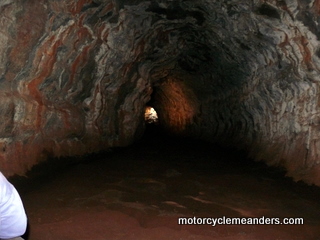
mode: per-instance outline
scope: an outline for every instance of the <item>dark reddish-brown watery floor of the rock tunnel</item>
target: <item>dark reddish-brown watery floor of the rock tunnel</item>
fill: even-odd
[[[62,161],[63,160],[63,161]],[[320,189],[242,153],[146,135],[15,177],[30,240],[320,239]],[[303,218],[303,225],[178,225],[178,217]]]

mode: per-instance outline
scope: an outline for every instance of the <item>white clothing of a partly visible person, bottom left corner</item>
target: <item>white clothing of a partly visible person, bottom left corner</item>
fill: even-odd
[[[14,186],[0,172],[0,239],[21,236],[27,228],[27,217]]]

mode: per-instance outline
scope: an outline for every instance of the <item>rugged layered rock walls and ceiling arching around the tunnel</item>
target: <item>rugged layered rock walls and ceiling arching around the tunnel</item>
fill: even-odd
[[[5,0],[0,169],[168,131],[320,185],[318,0]]]

